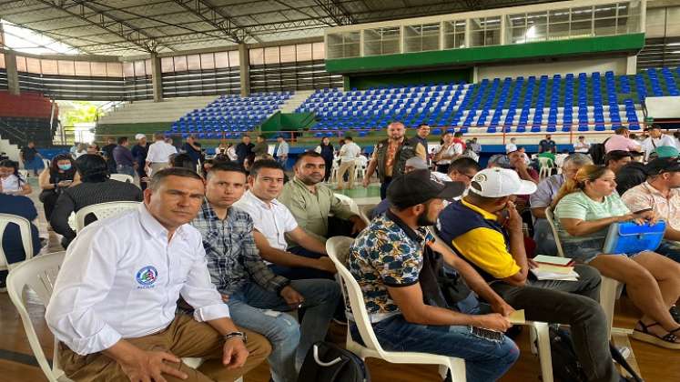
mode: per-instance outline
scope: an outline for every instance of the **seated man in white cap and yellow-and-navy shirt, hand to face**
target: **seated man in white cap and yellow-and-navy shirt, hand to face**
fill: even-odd
[[[600,274],[577,265],[578,281],[536,280],[524,249],[522,218],[513,198],[536,185],[505,168],[487,168],[472,178],[467,196],[447,206],[437,230],[508,304],[526,319],[571,326],[573,345],[589,381],[619,381],[609,350],[607,322],[597,300]]]

